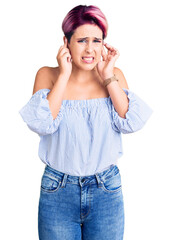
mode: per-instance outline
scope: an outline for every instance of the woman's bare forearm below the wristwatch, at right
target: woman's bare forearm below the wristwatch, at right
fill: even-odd
[[[106,87],[118,115],[122,118],[125,118],[125,114],[128,111],[129,106],[129,100],[127,95],[119,86],[119,83],[117,81],[109,83]]]

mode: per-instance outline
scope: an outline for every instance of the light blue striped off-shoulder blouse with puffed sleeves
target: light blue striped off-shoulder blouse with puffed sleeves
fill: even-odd
[[[129,99],[126,118],[115,111],[109,97],[63,100],[53,120],[47,95],[40,89],[19,111],[29,129],[40,137],[39,158],[52,168],[74,176],[87,176],[117,164],[123,154],[121,133],[141,129],[152,109],[135,93],[123,88]]]

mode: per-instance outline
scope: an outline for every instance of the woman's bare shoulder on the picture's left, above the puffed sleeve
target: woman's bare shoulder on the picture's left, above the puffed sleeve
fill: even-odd
[[[54,79],[57,79],[57,74],[58,67],[41,67],[36,73],[32,94],[40,89],[52,89]]]

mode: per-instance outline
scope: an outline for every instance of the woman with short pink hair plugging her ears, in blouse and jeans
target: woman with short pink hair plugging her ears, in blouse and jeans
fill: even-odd
[[[152,110],[114,67],[119,52],[104,43],[107,28],[98,7],[73,8],[62,24],[59,66],[38,70],[33,95],[20,110],[40,136],[39,157],[46,164],[41,240],[123,239],[121,133],[141,129]]]

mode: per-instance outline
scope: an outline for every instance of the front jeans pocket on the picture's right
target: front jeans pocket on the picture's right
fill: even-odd
[[[120,173],[105,179],[102,182],[102,189],[105,192],[111,192],[111,193],[115,193],[115,192],[119,192],[122,189],[122,185],[121,185],[121,176]]]

